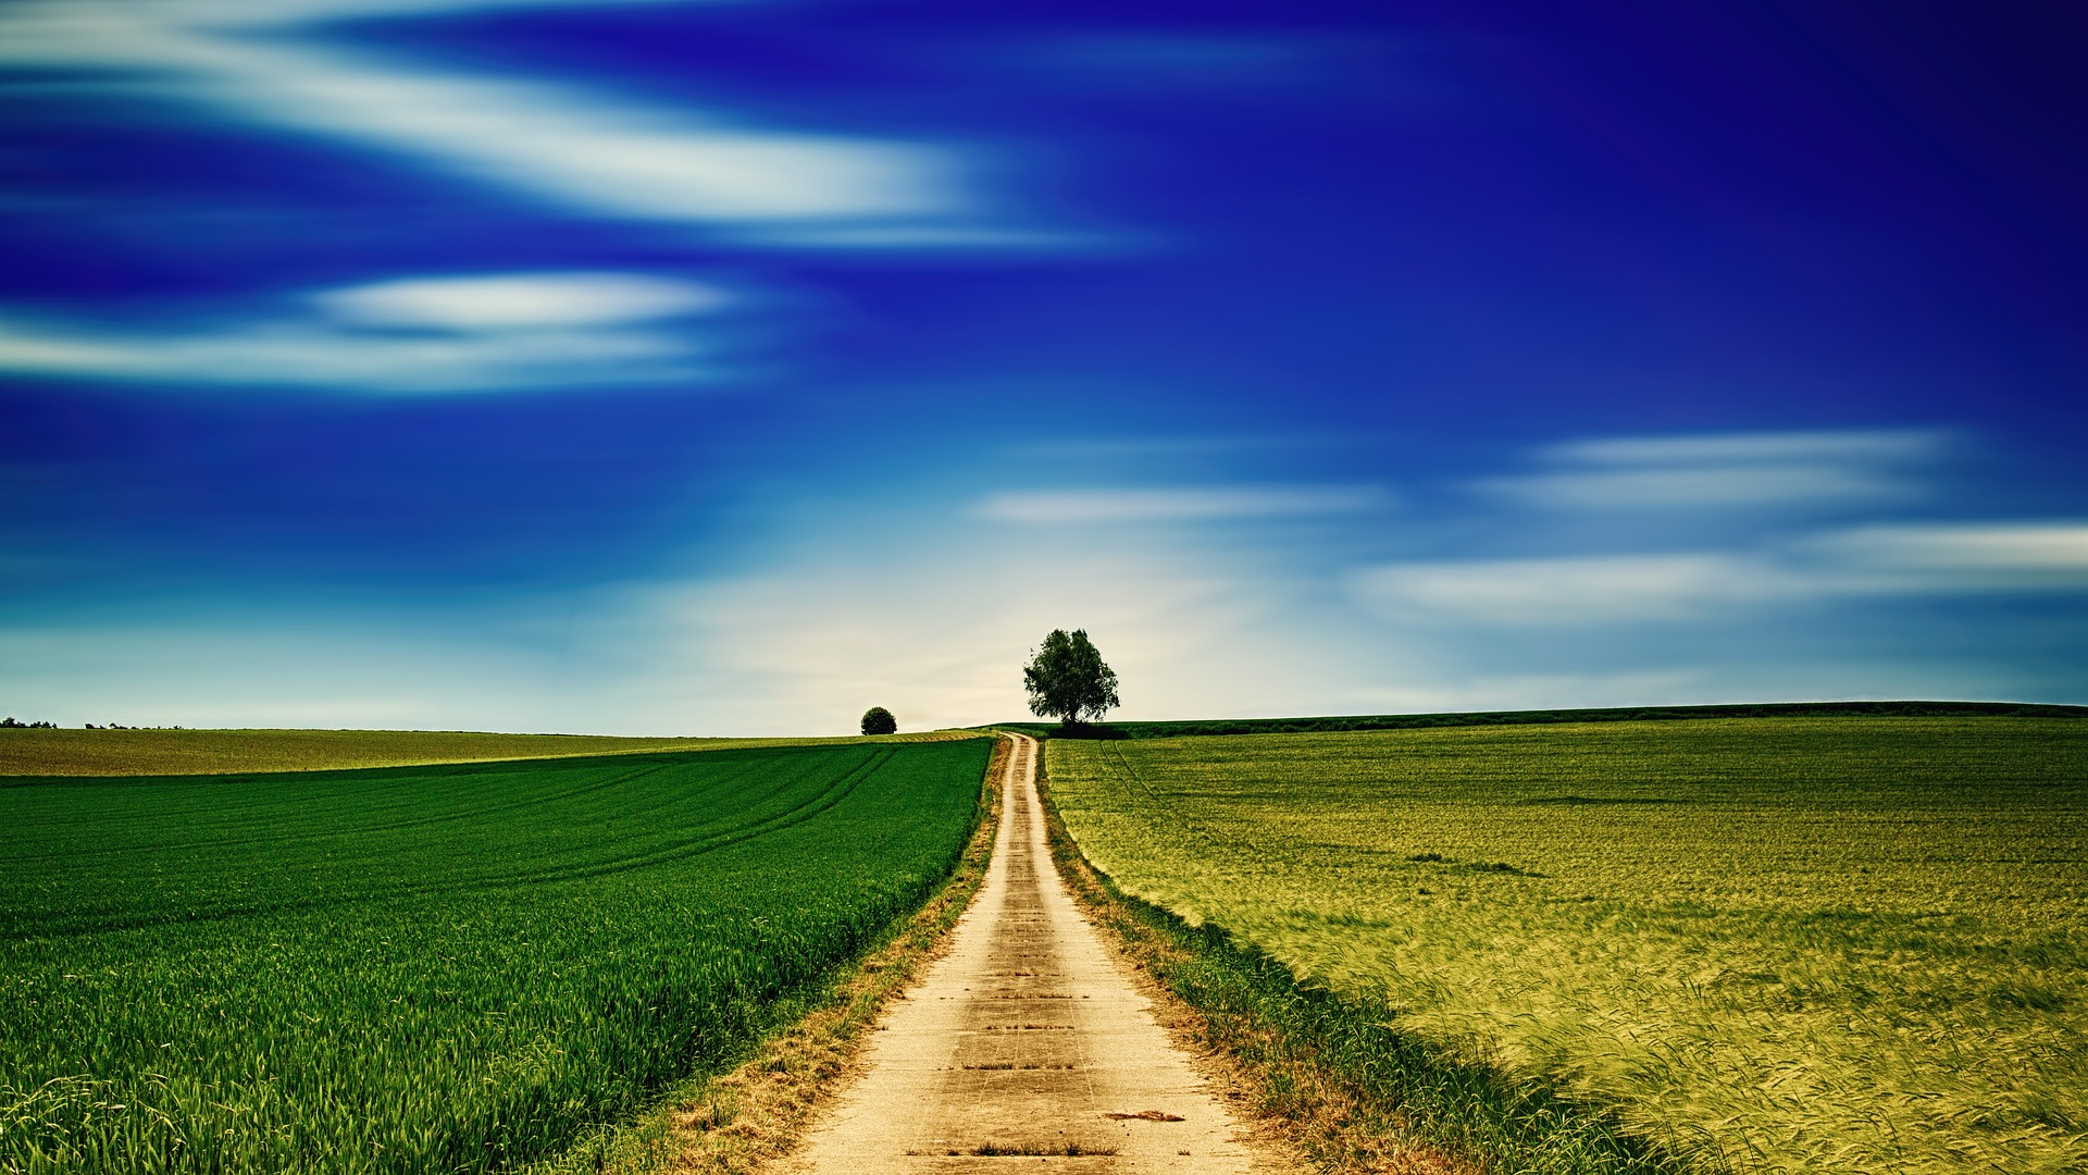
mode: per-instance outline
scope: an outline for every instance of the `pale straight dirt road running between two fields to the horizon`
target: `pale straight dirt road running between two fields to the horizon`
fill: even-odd
[[[1017,736],[986,884],[798,1152],[800,1175],[1274,1171],[1067,895],[1036,755]]]

